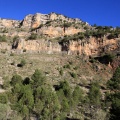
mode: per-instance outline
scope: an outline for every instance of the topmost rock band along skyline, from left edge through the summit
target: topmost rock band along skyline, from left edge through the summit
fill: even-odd
[[[19,20],[9,20],[9,19],[0,19],[0,28],[38,28],[41,24],[45,24],[48,21],[53,20],[62,20],[67,22],[82,23],[80,19],[72,19],[61,14],[50,13],[50,14],[29,14],[22,21]]]

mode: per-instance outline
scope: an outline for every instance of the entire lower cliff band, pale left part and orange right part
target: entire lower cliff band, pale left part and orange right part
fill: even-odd
[[[20,40],[18,50],[25,49],[34,52],[67,52],[86,56],[100,56],[104,52],[120,49],[120,40],[91,37],[88,40],[69,41],[69,43],[51,42],[49,40]]]

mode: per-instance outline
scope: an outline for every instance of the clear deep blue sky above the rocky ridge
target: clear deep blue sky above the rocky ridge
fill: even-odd
[[[120,26],[120,0],[0,0],[0,18],[56,12],[93,25]]]

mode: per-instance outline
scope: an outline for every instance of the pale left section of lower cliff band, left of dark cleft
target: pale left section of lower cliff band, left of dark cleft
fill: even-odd
[[[15,44],[16,45],[16,44]],[[49,40],[19,40],[17,44],[17,50],[26,50],[26,52],[61,52],[61,45],[57,42],[51,42]]]

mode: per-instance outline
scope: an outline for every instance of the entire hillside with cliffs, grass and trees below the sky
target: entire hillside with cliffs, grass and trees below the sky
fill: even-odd
[[[0,59],[0,120],[119,119],[119,27],[0,19]]]

